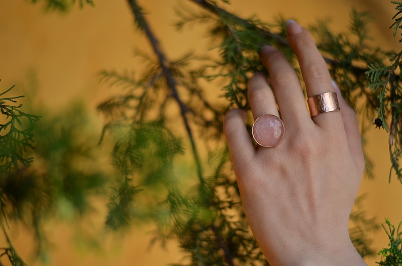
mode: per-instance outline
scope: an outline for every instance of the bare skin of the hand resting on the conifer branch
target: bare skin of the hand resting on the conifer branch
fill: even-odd
[[[256,73],[248,99],[254,119],[279,116],[285,126],[276,147],[254,146],[246,113],[226,114],[224,134],[250,227],[271,265],[366,265],[353,247],[348,219],[364,170],[355,112],[333,85],[306,29],[287,22],[289,43],[307,96],[336,92],[341,111],[310,117],[299,78],[285,56],[264,47],[268,79]]]

